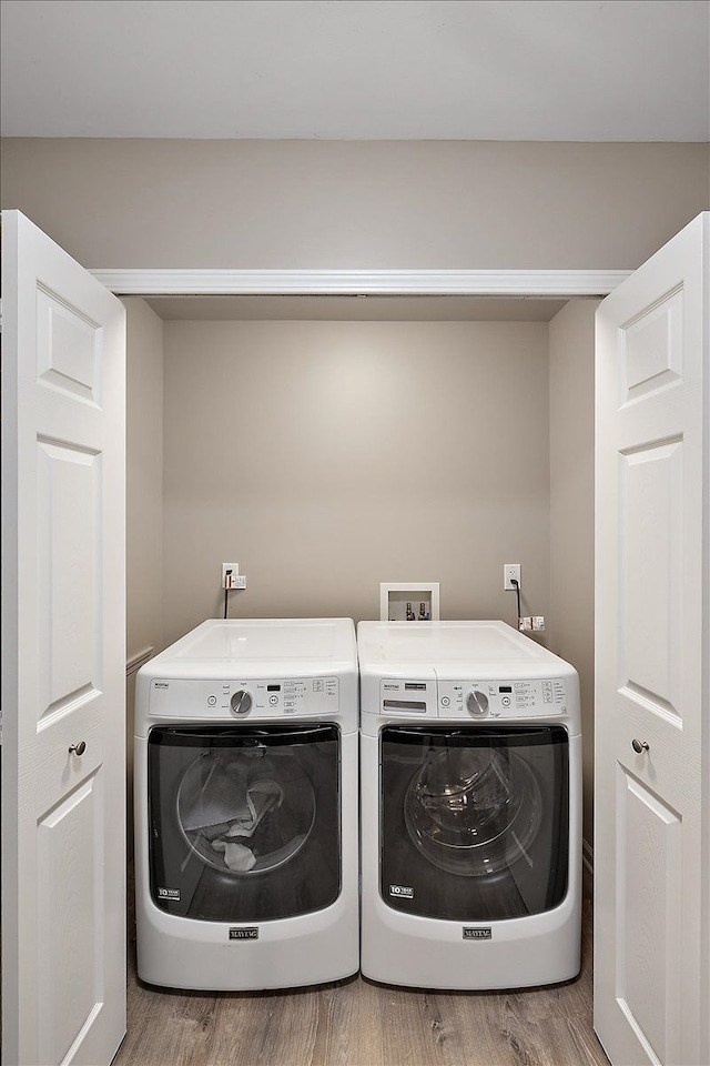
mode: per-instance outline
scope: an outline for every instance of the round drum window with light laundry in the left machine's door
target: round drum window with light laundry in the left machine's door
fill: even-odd
[[[178,788],[178,822],[209,866],[233,874],[275,869],[301,851],[315,821],[307,774],[263,750],[203,753]]]

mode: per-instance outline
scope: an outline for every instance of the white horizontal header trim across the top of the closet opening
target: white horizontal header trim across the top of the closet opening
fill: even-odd
[[[91,270],[116,295],[604,296],[630,270]]]

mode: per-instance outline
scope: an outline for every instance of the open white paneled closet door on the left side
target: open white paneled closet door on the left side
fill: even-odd
[[[2,1043],[125,1032],[124,309],[2,213]]]

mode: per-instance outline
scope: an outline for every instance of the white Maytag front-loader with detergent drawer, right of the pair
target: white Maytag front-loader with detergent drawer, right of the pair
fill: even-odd
[[[504,622],[361,622],[361,967],[425,988],[579,972],[576,671]]]

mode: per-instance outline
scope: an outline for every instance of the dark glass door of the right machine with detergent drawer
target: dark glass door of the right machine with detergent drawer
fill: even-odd
[[[539,914],[565,896],[566,730],[382,732],[381,893],[427,917]]]

